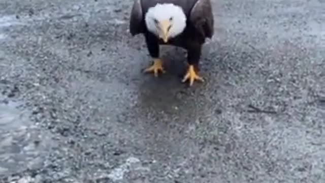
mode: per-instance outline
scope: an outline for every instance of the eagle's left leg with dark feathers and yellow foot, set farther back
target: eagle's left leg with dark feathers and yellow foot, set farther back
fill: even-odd
[[[153,58],[153,64],[146,69],[144,69],[145,73],[153,72],[154,76],[158,76],[158,72],[165,73],[165,69],[163,67],[163,60],[159,58],[159,44],[158,40],[155,36],[151,34],[145,35],[146,44],[148,47],[148,51],[150,56]]]

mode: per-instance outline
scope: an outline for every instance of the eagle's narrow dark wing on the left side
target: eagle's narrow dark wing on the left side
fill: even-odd
[[[131,11],[129,29],[132,36],[143,33],[144,23],[141,0],[134,0]]]

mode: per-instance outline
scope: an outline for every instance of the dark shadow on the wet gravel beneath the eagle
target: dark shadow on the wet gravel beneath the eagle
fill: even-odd
[[[160,58],[166,73],[143,73],[144,68],[150,66],[153,61],[149,60],[143,64],[141,70],[141,83],[139,85],[139,99],[142,108],[153,107],[157,110],[166,110],[169,106],[178,105],[175,97],[182,90],[186,90],[188,83],[181,80],[186,72],[186,50],[174,46],[160,46]]]

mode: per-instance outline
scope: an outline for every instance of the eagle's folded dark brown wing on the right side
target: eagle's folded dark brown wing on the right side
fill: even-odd
[[[190,12],[189,20],[204,38],[212,38],[214,20],[210,0],[198,0]]]

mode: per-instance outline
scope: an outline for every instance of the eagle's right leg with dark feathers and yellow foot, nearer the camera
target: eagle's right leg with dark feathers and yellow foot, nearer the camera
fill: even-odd
[[[202,82],[204,81],[204,79],[198,74],[201,48],[202,48],[201,45],[196,45],[196,46],[193,45],[187,48],[188,68],[182,82],[189,80],[190,86],[193,84],[194,80],[199,80]]]

